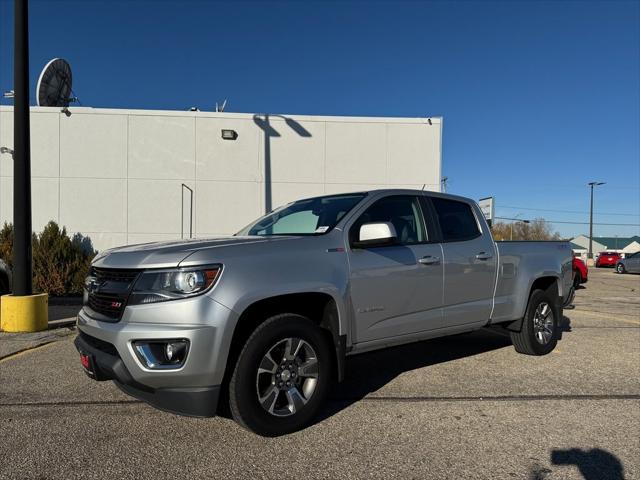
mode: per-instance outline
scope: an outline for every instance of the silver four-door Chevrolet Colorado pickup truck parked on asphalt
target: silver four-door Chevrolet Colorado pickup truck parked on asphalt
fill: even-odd
[[[280,435],[313,419],[347,355],[492,325],[520,353],[549,353],[571,260],[566,242],[496,244],[454,195],[309,198],[231,237],[103,252],[75,343],[90,377],[157,408],[228,404],[244,427]]]

